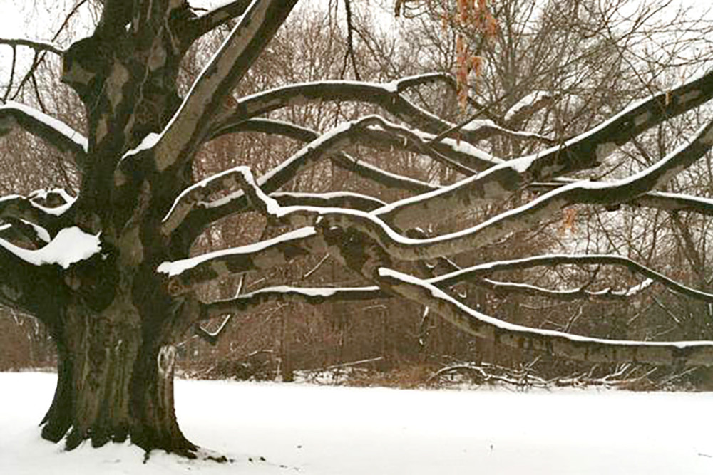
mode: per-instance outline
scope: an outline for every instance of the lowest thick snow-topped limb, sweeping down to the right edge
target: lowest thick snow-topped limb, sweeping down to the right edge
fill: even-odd
[[[663,365],[713,365],[713,341],[637,342],[588,338],[498,320],[448,296],[436,286],[389,268],[379,268],[379,285],[426,305],[461,330],[496,343],[587,362],[633,361]]]

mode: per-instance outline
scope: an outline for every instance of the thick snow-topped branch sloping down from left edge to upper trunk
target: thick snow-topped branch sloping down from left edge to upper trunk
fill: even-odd
[[[70,152],[78,165],[86,157],[87,140],[64,122],[27,105],[9,101],[0,105],[0,136],[14,127],[45,140],[61,152]]]

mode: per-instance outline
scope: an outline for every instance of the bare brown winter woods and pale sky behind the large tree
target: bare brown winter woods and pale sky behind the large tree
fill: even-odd
[[[489,121],[490,133],[483,134],[478,147],[507,159],[562,143],[610,118],[632,99],[665,91],[711,66],[713,48],[706,38],[712,37],[713,25],[701,11],[681,9],[670,1],[641,6],[616,0],[497,1],[492,7],[493,31],[487,36],[459,18],[454,3],[395,3],[398,16],[392,1],[302,4],[235,95],[325,78],[384,83],[421,73],[448,73],[454,78],[449,89],[441,84],[411,88],[409,100],[451,122],[475,119],[463,127],[464,133],[475,123]],[[83,22],[91,21],[91,2],[79,4],[76,16],[51,26],[53,31],[47,35],[56,33],[54,41],[68,41],[76,36],[73,32],[81,31]],[[222,33],[229,30],[230,25],[225,26]],[[185,88],[221,39],[218,32],[193,47],[182,65]],[[61,68],[56,60],[21,47],[13,53],[17,68],[11,72],[8,64],[0,65],[3,98],[34,105],[82,130],[81,118],[70,112],[80,110],[78,99],[68,88],[57,87]],[[654,127],[581,177],[615,179],[650,167],[692,135],[709,109],[703,106]],[[301,140],[309,141],[314,138],[310,130],[323,132],[371,112],[363,104],[312,102],[266,117],[308,127]],[[374,106],[373,112],[382,111]],[[198,181],[235,165],[248,165],[261,175],[299,150],[299,138],[258,132],[225,135],[200,152],[194,178]],[[452,164],[394,147],[388,137],[377,134],[372,139],[369,147],[353,145],[345,152],[359,163],[378,164],[410,177],[414,189],[451,184],[463,176]],[[474,164],[463,171],[481,169]],[[530,185],[508,202],[478,204],[431,223],[424,232],[443,234],[456,229],[456,224],[461,229],[475,225],[553,186]],[[2,137],[0,194],[29,195],[54,187],[78,189],[78,176],[61,152],[21,132]],[[359,192],[384,202],[408,196],[361,179],[336,161],[312,167],[282,191],[297,189]],[[660,191],[684,190],[713,198],[710,154]],[[225,219],[200,237],[194,253],[249,244],[271,237],[271,232],[275,230],[258,214]],[[453,261],[465,267],[533,254],[617,254],[709,292],[713,290],[711,239],[706,215],[628,205],[617,209],[579,205]],[[438,273],[435,261],[433,266],[431,271]],[[202,293],[205,300],[215,300],[232,297],[235,288],[246,293],[276,283],[316,287],[359,282],[359,276],[329,256],[308,257],[269,273],[225,278],[206,285]],[[460,291],[471,308],[535,328],[618,340],[713,340],[709,303],[657,286],[625,267],[582,264],[499,271]],[[0,313],[6,317],[0,318],[0,370],[55,365],[53,343],[41,323],[7,308],[0,308]],[[633,389],[713,385],[713,374],[703,368],[588,365],[501,347],[461,333],[422,306],[396,299],[321,306],[267,303],[231,316],[204,325],[202,338],[188,336],[178,345],[179,365],[186,375],[284,381],[329,375],[353,384],[406,386],[447,382],[453,375],[515,385],[589,383]],[[220,338],[212,336],[221,328]]]

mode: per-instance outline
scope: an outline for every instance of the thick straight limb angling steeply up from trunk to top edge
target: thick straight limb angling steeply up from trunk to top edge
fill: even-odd
[[[183,104],[155,144],[155,167],[163,172],[191,160],[213,120],[277,32],[297,0],[255,0],[195,80]]]

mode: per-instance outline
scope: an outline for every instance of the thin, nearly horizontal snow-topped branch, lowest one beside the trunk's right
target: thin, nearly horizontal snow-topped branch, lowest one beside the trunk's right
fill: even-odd
[[[388,293],[379,287],[347,287],[347,288],[299,288],[277,286],[263,288],[259,291],[228,300],[205,303],[201,309],[200,318],[207,320],[225,313],[245,312],[267,302],[308,303],[321,305],[324,303],[365,301],[374,298],[389,298]]]

